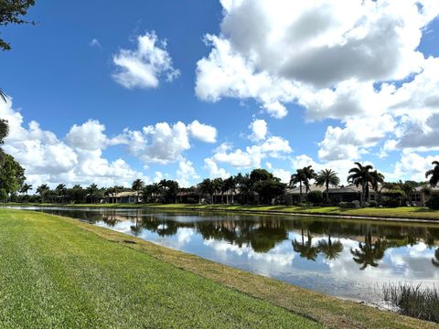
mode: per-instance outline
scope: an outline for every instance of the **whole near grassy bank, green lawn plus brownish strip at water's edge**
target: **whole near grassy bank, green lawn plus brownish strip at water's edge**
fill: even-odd
[[[1,327],[437,327],[28,211],[0,209],[0,269]]]

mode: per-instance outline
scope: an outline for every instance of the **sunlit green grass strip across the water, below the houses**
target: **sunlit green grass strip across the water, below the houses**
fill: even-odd
[[[3,204],[3,206],[41,206],[40,204]],[[59,206],[46,204],[45,206]],[[412,218],[439,220],[439,210],[431,210],[427,207],[395,207],[395,208],[340,208],[340,207],[295,207],[295,206],[241,206],[241,205],[187,205],[187,204],[100,204],[100,205],[69,205],[69,207],[145,207],[145,208],[169,208],[187,210],[223,210],[223,211],[245,211],[263,213],[284,213],[284,214],[307,214],[325,216],[347,216],[347,217],[370,217],[370,218]]]

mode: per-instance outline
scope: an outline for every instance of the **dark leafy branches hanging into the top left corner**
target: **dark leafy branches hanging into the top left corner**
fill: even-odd
[[[35,0],[0,0],[0,26],[35,24],[22,18],[27,15],[27,9],[31,5],[35,5]],[[0,38],[0,48],[10,50],[11,45]]]

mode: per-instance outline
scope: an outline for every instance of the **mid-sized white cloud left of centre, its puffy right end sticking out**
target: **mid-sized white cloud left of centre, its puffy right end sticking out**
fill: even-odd
[[[167,122],[145,126],[142,131],[125,129],[115,139],[127,145],[130,154],[145,163],[169,164],[181,160],[184,151],[190,149],[190,137],[205,143],[214,143],[217,130],[207,124],[194,121],[186,125]]]

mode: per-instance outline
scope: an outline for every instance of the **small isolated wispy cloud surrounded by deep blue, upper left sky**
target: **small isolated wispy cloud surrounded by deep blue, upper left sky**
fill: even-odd
[[[162,76],[172,81],[180,74],[173,67],[166,41],[158,40],[154,31],[137,37],[135,50],[120,49],[112,61],[117,67],[112,78],[128,89],[156,88]]]

